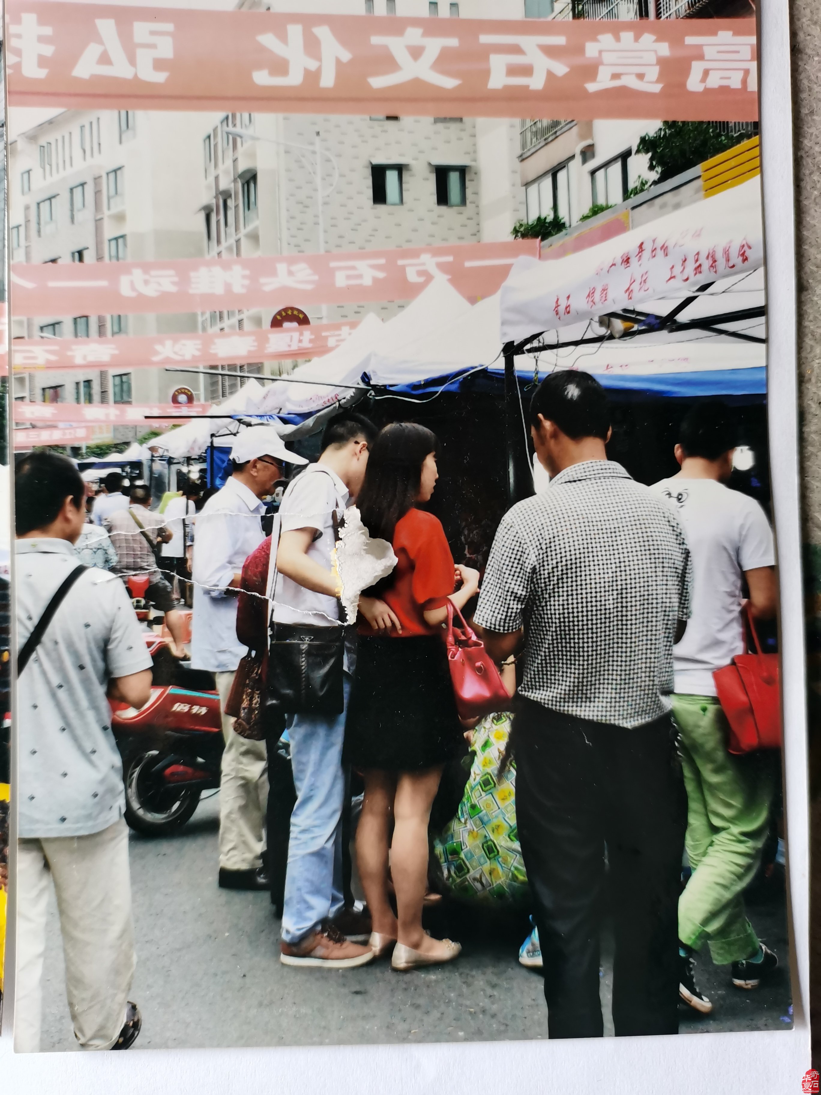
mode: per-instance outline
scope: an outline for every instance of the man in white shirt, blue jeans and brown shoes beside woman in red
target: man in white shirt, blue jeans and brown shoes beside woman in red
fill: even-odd
[[[319,461],[291,482],[279,507],[281,534],[274,591],[275,623],[339,624],[339,578],[334,566],[337,526],[365,479],[375,429],[343,411],[328,419]],[[382,601],[360,600],[374,627],[398,625]],[[385,620],[388,613],[392,619]],[[355,647],[346,646],[343,688],[347,707]],[[287,966],[342,969],[373,957],[367,910],[345,909],[342,818],[346,779],[342,764],[345,711],[294,714],[288,736],[297,802],[291,814],[282,907],[280,960]]]

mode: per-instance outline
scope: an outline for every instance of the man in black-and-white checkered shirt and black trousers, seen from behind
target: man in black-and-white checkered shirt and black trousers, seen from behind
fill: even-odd
[[[522,652],[517,821],[548,1034],[603,1034],[603,908],[616,1035],[677,1034],[686,804],[669,693],[690,552],[675,514],[608,461],[597,380],[553,373],[530,420],[551,482],[502,518],[474,622],[494,658]]]

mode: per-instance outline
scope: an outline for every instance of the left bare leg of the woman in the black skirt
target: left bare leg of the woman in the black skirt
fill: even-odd
[[[396,776],[371,769],[363,773],[365,796],[357,825],[357,867],[373,931],[396,938],[396,918],[388,900],[388,849]]]

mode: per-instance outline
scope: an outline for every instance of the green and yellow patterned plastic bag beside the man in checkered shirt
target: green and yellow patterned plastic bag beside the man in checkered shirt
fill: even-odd
[[[516,828],[516,765],[499,775],[510,715],[497,712],[476,726],[474,759],[456,816],[433,840],[444,885],[452,897],[529,908]]]

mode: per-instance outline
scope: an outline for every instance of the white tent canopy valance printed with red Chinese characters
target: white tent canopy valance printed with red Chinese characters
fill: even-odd
[[[564,258],[519,258],[500,289],[500,341],[522,342],[762,266],[760,178]],[[564,339],[564,336],[563,336]]]

